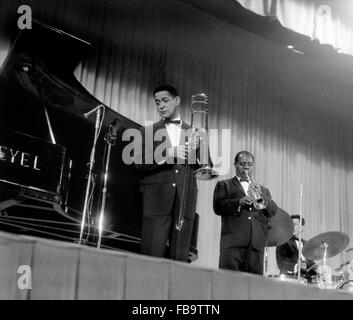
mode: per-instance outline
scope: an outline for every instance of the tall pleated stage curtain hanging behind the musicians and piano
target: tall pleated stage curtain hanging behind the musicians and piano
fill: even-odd
[[[144,124],[158,119],[151,91],[161,82],[179,88],[186,121],[191,95],[207,93],[209,127],[230,132],[219,150],[225,159],[216,166],[222,173],[218,179],[233,176],[227,163],[247,149],[256,157],[257,181],[280,207],[295,214],[302,203],[306,239],[328,231],[353,239],[353,72],[346,60],[297,54],[185,1],[26,3],[35,18],[92,44],[75,75],[99,100]],[[18,31],[21,4],[0,2],[2,60]],[[217,144],[221,134],[211,141],[212,153]],[[218,266],[220,218],[212,210],[216,182],[199,182],[195,264],[206,267]],[[351,258],[342,253],[329,263],[334,268]],[[276,272],[270,248],[269,273]]]

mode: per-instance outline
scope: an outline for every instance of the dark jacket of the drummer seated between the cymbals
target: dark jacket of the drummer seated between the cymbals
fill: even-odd
[[[303,240],[303,246],[306,241]],[[295,237],[292,236],[286,243],[276,248],[277,266],[282,274],[291,274],[294,272],[294,266],[298,263],[298,247]],[[307,268],[315,264],[314,261],[305,259]],[[314,271],[314,270],[313,270]]]

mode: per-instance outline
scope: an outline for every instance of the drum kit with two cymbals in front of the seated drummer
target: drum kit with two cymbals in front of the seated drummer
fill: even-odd
[[[293,222],[288,213],[278,209],[277,213],[269,220],[267,243],[264,257],[264,274],[267,276],[267,247],[277,247],[289,240],[293,235]],[[327,259],[338,255],[348,246],[349,237],[345,233],[332,231],[319,234],[311,238],[303,247],[302,254],[306,259],[314,260],[317,279],[316,285],[321,289],[347,289],[353,291],[353,260],[342,263],[334,271],[339,275],[333,275]],[[353,247],[345,252],[353,251]],[[306,270],[308,271],[308,270]],[[278,276],[275,276],[278,277]],[[280,280],[297,281],[289,279],[285,275],[279,276]],[[302,281],[302,279],[300,280]],[[306,282],[304,282],[306,283]]]

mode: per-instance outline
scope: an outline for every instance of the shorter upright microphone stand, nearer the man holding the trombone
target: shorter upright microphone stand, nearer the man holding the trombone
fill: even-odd
[[[114,120],[114,122],[115,122],[115,120]],[[108,181],[108,172],[109,172],[110,152],[111,152],[112,146],[115,145],[116,138],[117,138],[116,130],[114,128],[114,125],[111,124],[109,126],[108,133],[104,137],[104,141],[108,145],[108,151],[107,151],[107,157],[106,157],[104,183],[103,183],[103,189],[102,189],[102,204],[101,204],[99,223],[98,223],[98,244],[97,244],[98,249],[100,249],[101,242],[102,242],[103,218],[104,218],[105,201],[107,198],[107,181]]]

